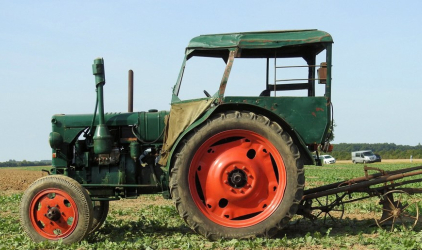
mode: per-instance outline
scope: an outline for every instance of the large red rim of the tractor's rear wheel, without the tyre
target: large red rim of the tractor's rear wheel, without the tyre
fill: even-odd
[[[228,130],[196,151],[188,175],[196,206],[211,221],[248,227],[268,218],[286,188],[282,157],[275,146],[248,130]]]

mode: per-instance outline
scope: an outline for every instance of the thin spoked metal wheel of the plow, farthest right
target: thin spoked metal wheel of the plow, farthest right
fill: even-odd
[[[401,190],[392,190],[385,193],[380,200],[382,216],[375,219],[382,228],[412,230],[419,219],[419,202]]]

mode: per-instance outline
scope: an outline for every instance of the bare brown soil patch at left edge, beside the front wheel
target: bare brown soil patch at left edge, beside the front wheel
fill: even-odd
[[[42,171],[0,168],[0,195],[22,193],[32,182],[46,175]]]

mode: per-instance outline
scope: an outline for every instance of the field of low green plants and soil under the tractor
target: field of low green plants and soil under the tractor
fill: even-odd
[[[418,166],[408,161],[371,164],[384,170]],[[46,167],[43,167],[44,169]],[[341,221],[314,222],[296,216],[291,225],[271,239],[208,241],[193,233],[179,217],[173,204],[161,195],[145,195],[110,203],[103,227],[86,240],[70,246],[33,243],[19,225],[22,192],[45,175],[42,167],[0,168],[0,250],[2,249],[422,249],[422,221],[413,231],[379,229],[378,198],[346,204]],[[306,166],[306,188],[364,175],[363,165],[337,163],[323,167]],[[413,187],[420,187],[413,184]],[[421,199],[419,195],[409,199]],[[421,216],[422,217],[422,216]]]

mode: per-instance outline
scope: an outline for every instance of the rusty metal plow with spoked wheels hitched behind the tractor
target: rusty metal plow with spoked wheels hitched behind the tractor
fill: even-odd
[[[362,177],[305,190],[297,214],[311,221],[321,218],[324,224],[337,223],[343,218],[344,204],[378,197],[382,215],[375,222],[379,227],[412,229],[419,220],[419,200],[412,195],[422,193],[422,188],[405,185],[422,181],[422,166],[394,171],[365,166],[364,172]]]

